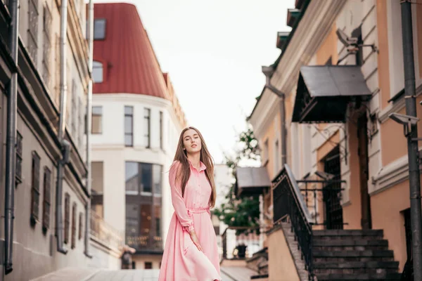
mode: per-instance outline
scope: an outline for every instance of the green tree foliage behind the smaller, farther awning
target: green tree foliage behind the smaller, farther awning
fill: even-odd
[[[257,160],[260,157],[258,142],[250,126],[246,131],[239,134],[238,142],[240,148],[236,150],[235,154],[225,155],[226,165],[233,171],[233,176],[236,175],[236,167],[241,160]],[[235,185],[236,183],[233,183],[229,192],[226,194],[227,202],[216,208],[214,213],[228,226],[257,228],[257,233],[259,233],[259,199],[257,197],[236,197],[234,194]],[[239,234],[244,231],[238,230],[237,232]]]

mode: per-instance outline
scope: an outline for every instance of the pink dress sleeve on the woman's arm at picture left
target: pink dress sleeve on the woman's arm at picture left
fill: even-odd
[[[181,195],[180,182],[176,181],[176,175],[180,168],[180,162],[173,162],[172,166],[170,167],[170,190],[172,191],[172,204],[174,207],[174,212],[176,213],[177,218],[179,218],[183,229],[189,232],[193,230],[193,221],[188,214],[186,204],[184,203],[183,197]]]

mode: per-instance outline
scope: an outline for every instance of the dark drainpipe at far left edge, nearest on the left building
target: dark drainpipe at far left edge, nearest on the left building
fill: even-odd
[[[15,65],[18,65],[19,0],[9,0],[11,13],[8,47]],[[4,266],[5,273],[13,270],[13,220],[15,218],[15,169],[16,169],[16,112],[18,106],[18,72],[14,72],[8,87],[7,140],[6,140],[6,190],[4,202]]]

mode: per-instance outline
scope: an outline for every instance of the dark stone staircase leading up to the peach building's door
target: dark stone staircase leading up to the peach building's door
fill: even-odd
[[[314,274],[323,280],[400,280],[383,230],[314,230]]]

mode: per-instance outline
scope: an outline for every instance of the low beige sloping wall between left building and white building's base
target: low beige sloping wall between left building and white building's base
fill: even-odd
[[[120,251],[123,245],[123,233],[115,230],[106,221],[91,210],[91,240],[103,244],[103,246]]]

